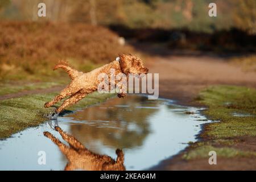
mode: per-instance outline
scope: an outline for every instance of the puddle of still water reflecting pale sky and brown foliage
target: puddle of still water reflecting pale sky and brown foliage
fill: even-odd
[[[43,135],[48,131],[68,146],[53,130],[55,125],[79,140],[92,155],[108,155],[115,160],[115,150],[122,148],[127,170],[146,169],[177,154],[188,142],[196,141],[200,125],[210,122],[200,110],[175,105],[171,100],[147,100],[144,96],[113,98],[0,141],[0,169],[63,170],[69,162],[66,155]],[[39,151],[46,152],[45,165],[38,164]],[[68,157],[84,163],[80,169],[92,169],[96,165],[84,152],[76,159]]]

